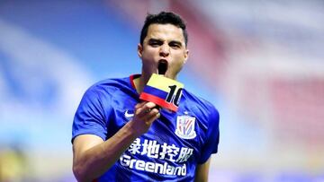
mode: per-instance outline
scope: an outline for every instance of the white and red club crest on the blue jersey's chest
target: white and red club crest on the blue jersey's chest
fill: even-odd
[[[187,115],[176,117],[175,134],[184,139],[193,139],[196,136],[194,122],[195,117]]]

